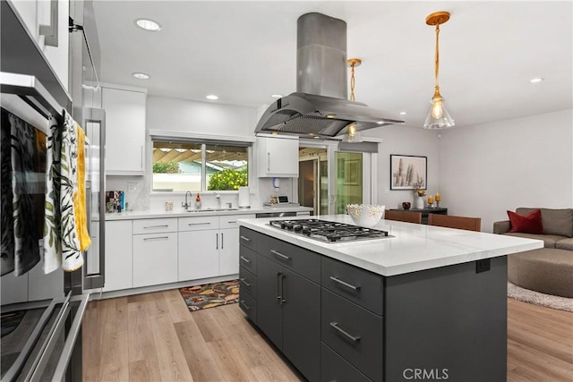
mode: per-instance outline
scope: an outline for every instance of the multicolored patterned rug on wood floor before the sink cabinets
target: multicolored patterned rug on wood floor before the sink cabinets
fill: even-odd
[[[202,310],[239,301],[239,280],[179,288],[189,310]]]

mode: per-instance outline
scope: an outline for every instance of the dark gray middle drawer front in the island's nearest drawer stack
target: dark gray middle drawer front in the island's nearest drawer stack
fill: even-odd
[[[382,379],[382,318],[322,288],[321,339],[373,381]]]

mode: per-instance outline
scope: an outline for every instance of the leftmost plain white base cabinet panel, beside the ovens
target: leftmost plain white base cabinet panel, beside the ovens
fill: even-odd
[[[132,221],[106,222],[106,281],[104,292],[133,287]]]

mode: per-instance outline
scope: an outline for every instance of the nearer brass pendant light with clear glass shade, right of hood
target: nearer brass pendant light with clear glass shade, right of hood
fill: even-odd
[[[436,12],[426,17],[426,24],[436,26],[436,84],[431,101],[432,108],[423,123],[424,129],[444,129],[456,124],[449,116],[448,110],[446,110],[446,106],[444,105],[445,101],[444,98],[441,97],[440,85],[438,84],[438,72],[440,69],[440,49],[438,44],[440,39],[440,24],[443,24],[446,21],[449,21],[449,12]]]

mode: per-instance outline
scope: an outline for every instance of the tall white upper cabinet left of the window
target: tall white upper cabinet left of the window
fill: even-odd
[[[106,174],[145,173],[145,104],[147,93],[102,87],[106,110]]]

